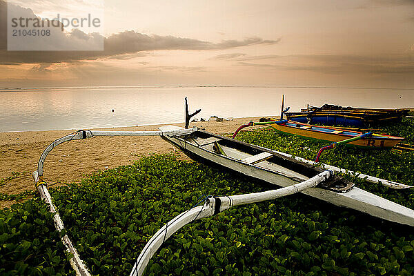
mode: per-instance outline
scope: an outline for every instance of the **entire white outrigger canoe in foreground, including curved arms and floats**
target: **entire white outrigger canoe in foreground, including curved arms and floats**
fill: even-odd
[[[188,127],[189,117],[188,108],[186,108],[186,127]],[[284,187],[263,193],[208,197],[202,206],[197,206],[181,213],[168,222],[168,224],[150,239],[130,273],[133,276],[141,275],[150,257],[155,254],[159,246],[170,235],[191,221],[215,215],[232,206],[275,199],[294,193],[304,193],[311,197],[331,202],[337,206],[352,208],[362,213],[373,215],[374,217],[414,226],[414,210],[354,187],[353,183],[334,175],[335,171],[350,173],[351,175],[355,175],[355,172],[326,164],[317,164],[299,157],[293,158],[291,155],[283,152],[277,152],[235,139],[214,135],[213,133],[197,128],[164,126],[159,128],[158,131],[79,130],[57,139],[43,151],[37,170],[33,172],[33,177],[41,198],[48,204],[50,212],[54,213],[53,219],[59,233],[64,229],[64,225],[57,208],[52,203],[52,197],[48,192],[46,181],[43,179],[44,162],[48,154],[63,142],[97,136],[160,136],[170,144],[183,150],[186,155],[193,159],[207,161],[210,164],[213,163],[223,166],[241,172],[244,175],[255,177],[256,179],[268,181],[270,184]],[[413,188],[412,186],[379,179],[377,177],[361,174],[357,174],[356,176],[373,183],[383,184],[390,188]],[[63,235],[61,239],[68,253],[73,255],[70,259],[70,264],[76,274],[82,276],[90,275],[68,235]]]

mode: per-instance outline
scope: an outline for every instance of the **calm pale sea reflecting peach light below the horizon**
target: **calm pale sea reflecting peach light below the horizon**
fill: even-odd
[[[413,108],[414,89],[268,87],[100,87],[0,89],[0,132],[170,124],[184,121],[184,97],[196,117],[256,117],[332,103]],[[112,110],[114,110],[112,112]]]

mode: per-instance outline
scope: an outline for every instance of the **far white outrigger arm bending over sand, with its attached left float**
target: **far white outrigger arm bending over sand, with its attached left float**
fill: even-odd
[[[179,129],[179,130],[168,130],[168,131],[105,131],[105,130],[78,130],[70,135],[66,135],[61,137],[55,141],[53,141],[45,150],[43,150],[39,162],[37,164],[37,170],[32,173],[34,179],[34,186],[36,186],[37,190],[39,191],[40,197],[46,204],[49,206],[50,213],[53,213],[53,221],[55,223],[56,230],[61,233],[61,231],[65,228],[63,225],[63,221],[57,211],[56,206],[52,203],[52,197],[47,188],[46,181],[43,179],[43,166],[45,164],[46,157],[48,154],[59,144],[62,144],[66,141],[73,141],[73,140],[80,140],[80,139],[87,139],[94,136],[164,136],[164,135],[188,135],[197,131],[197,128],[188,128],[188,129]],[[75,270],[77,276],[90,276],[88,268],[83,263],[79,253],[75,246],[73,246],[72,242],[70,241],[68,235],[63,235],[61,237],[63,244],[66,247],[66,251],[73,255],[70,258],[69,262],[72,268]]]

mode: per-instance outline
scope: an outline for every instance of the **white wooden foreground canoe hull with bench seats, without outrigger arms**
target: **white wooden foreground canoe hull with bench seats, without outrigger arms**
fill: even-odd
[[[159,128],[162,132],[179,129],[176,126]],[[323,171],[321,168],[304,164],[275,150],[254,146],[204,130],[197,130],[190,135],[164,135],[161,138],[182,150],[191,159],[216,164],[277,186],[286,187],[297,184]],[[354,187],[353,183],[337,176],[331,181],[319,184],[315,188],[308,188],[302,193],[336,206],[359,210],[374,217],[414,226],[414,210]]]

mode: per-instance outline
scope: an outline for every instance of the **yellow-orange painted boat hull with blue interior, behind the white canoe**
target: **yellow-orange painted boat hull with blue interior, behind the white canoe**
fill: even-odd
[[[328,142],[339,142],[363,135],[363,132],[353,130],[340,130],[338,128],[329,128],[326,126],[313,126],[302,124],[296,121],[282,121],[282,123],[266,122],[278,132],[287,135],[297,135],[307,139],[317,139]],[[255,123],[253,123],[255,124]],[[404,140],[402,137],[373,133],[369,137],[357,139],[346,143],[346,146],[368,149],[389,149]]]

